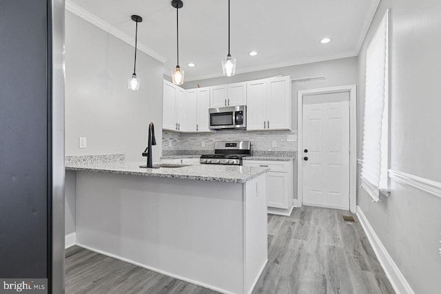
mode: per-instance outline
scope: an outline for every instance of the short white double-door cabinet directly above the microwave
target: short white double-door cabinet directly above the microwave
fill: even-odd
[[[210,107],[247,105],[247,83],[210,87]]]

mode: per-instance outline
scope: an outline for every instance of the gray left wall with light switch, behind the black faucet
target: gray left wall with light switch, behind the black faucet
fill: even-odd
[[[148,125],[162,129],[163,63],[138,51],[139,91],[127,89],[134,48],[88,21],[66,12],[66,155],[125,154],[143,160]],[[79,137],[88,147],[79,149]],[[161,157],[156,132],[154,161]]]

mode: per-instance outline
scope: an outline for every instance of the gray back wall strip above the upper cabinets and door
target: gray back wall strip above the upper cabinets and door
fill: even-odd
[[[219,65],[220,66],[220,65]],[[240,67],[240,61],[238,61]],[[238,83],[245,81],[269,78],[271,76],[291,76],[291,78],[307,78],[313,76],[323,76],[322,81],[307,81],[292,83],[292,129],[297,130],[297,91],[316,89],[320,87],[333,87],[340,85],[352,85],[358,83],[358,63],[356,57],[345,59],[334,59],[317,63],[307,63],[287,67],[278,67],[272,70],[260,70],[258,72],[246,72],[235,76],[222,76],[219,78],[207,78],[199,81],[185,82],[185,89],[207,87],[213,85],[224,85],[228,83]]]

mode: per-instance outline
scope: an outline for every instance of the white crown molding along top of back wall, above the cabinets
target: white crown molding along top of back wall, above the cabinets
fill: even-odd
[[[322,62],[322,61],[331,61],[335,59],[344,59],[347,57],[353,57],[357,56],[358,53],[355,50],[338,53],[338,54],[329,54],[329,55],[323,55],[323,56],[316,56],[316,57],[307,57],[303,59],[293,59],[290,61],[280,61],[278,63],[270,63],[266,65],[258,65],[258,66],[251,66],[251,67],[243,67],[238,70],[236,68],[236,75],[237,74],[245,74],[247,72],[257,72],[259,70],[273,70],[274,68],[280,68],[280,67],[288,67],[293,65],[302,65],[307,63],[316,63],[316,62]],[[220,66],[219,66],[220,69]],[[164,74],[168,75],[167,72],[164,70]],[[186,81],[198,81],[198,80],[205,80],[206,78],[218,78],[222,75],[222,72],[216,74],[201,74],[198,76],[192,76],[190,78],[186,78]]]

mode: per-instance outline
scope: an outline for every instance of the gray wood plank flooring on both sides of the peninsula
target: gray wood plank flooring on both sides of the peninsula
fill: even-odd
[[[268,264],[253,293],[394,293],[349,211],[301,207],[268,216]],[[356,219],[356,216],[353,215]],[[217,293],[78,246],[66,251],[66,293]]]

